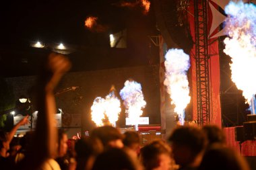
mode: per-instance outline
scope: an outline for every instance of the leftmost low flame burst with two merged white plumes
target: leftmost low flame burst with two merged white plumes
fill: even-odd
[[[121,112],[120,101],[115,96],[115,92],[111,91],[105,99],[102,97],[96,97],[91,107],[92,121],[96,126],[103,126],[103,120],[108,118],[108,122],[112,126],[116,126],[116,122],[119,119]]]

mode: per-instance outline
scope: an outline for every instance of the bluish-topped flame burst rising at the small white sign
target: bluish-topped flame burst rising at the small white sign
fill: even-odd
[[[121,89],[120,95],[126,108],[127,117],[133,123],[132,125],[135,125],[135,129],[138,130],[139,117],[143,114],[141,109],[146,106],[141,85],[136,81],[125,81],[125,87]]]

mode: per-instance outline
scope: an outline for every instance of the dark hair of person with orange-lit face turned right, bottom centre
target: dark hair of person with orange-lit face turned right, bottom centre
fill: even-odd
[[[141,148],[140,158],[145,169],[158,167],[158,157],[162,154],[170,155],[170,147],[162,140],[155,140]]]

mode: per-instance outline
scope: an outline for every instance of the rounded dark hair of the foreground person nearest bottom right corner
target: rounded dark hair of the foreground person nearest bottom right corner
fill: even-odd
[[[214,144],[205,152],[199,170],[215,169],[249,170],[249,165],[232,148]]]

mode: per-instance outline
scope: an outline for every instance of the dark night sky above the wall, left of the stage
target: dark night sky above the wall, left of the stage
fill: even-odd
[[[154,7],[145,15],[139,0],[120,7],[118,0],[5,1],[0,5],[0,73],[4,77],[34,75],[38,58],[50,48],[32,49],[31,42],[68,44],[72,71],[131,67],[152,63],[150,39],[156,36]],[[103,32],[88,30],[84,21],[98,17]],[[127,48],[110,49],[109,34],[127,29]],[[77,50],[78,49],[78,50]],[[81,50],[82,49],[82,50]],[[98,61],[101,62],[98,62]]]

